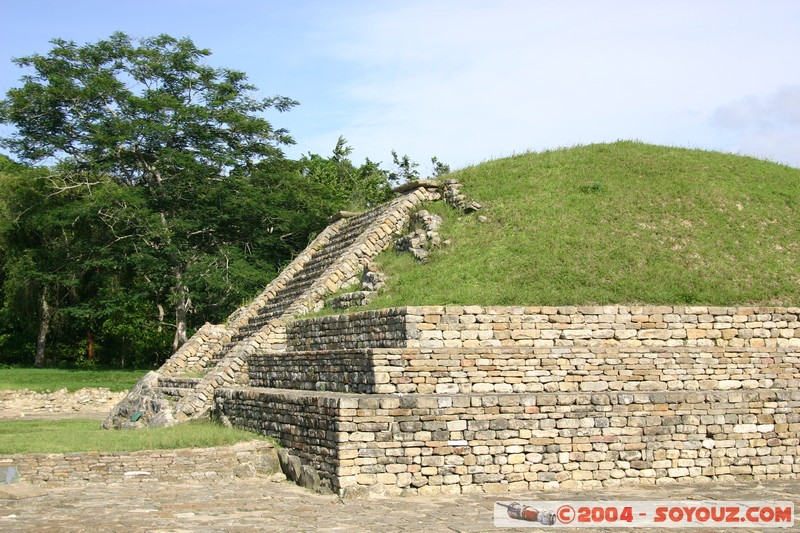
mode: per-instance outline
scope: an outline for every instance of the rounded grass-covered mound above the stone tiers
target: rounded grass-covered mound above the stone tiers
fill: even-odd
[[[749,157],[598,144],[455,172],[484,205],[441,203],[452,245],[385,252],[398,305],[800,305],[800,170]]]

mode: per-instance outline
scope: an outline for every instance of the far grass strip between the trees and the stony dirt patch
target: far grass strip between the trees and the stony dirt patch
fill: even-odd
[[[0,367],[0,390],[30,389],[43,392],[86,387],[105,387],[125,391],[136,384],[147,370],[64,370],[52,368]]]

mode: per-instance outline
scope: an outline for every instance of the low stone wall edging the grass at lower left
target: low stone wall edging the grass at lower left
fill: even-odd
[[[19,454],[0,457],[0,467],[14,466],[19,481],[34,485],[75,482],[231,480],[277,471],[277,455],[268,441],[218,448]]]

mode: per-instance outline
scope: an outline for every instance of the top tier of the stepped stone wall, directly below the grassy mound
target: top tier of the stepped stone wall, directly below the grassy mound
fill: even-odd
[[[401,307],[296,321],[288,347],[800,348],[799,315],[797,307]]]

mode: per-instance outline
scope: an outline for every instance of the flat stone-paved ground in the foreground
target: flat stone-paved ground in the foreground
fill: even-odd
[[[0,531],[497,531],[493,526],[495,501],[544,499],[773,500],[793,501],[797,511],[800,509],[800,480],[659,487],[632,485],[594,493],[560,491],[345,501],[262,478],[230,483],[145,482],[57,488],[0,485]],[[504,528],[501,531],[553,529]],[[798,529],[800,523],[793,528],[794,531]],[[586,531],[612,530],[593,528]],[[765,530],[737,528],[729,531]]]

